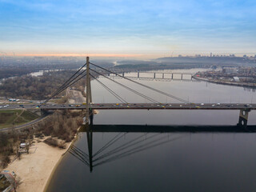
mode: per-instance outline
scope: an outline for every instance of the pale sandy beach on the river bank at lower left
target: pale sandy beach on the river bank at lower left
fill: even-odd
[[[67,143],[66,150],[68,146],[70,143]],[[21,160],[16,159],[10,163],[5,170],[14,171],[21,178],[17,192],[42,192],[54,166],[66,150],[48,146],[44,142],[35,142],[30,147],[30,154],[22,154]]]

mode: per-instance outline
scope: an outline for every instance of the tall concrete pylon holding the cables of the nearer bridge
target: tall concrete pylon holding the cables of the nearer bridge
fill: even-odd
[[[86,125],[89,125],[90,116],[93,115],[90,109],[92,102],[91,86],[90,86],[90,59],[86,57]]]

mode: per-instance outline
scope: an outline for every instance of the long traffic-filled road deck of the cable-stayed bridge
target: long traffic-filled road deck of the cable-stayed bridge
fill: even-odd
[[[36,104],[0,105],[0,110],[41,109],[41,110],[86,110],[82,104]],[[93,110],[256,110],[250,103],[92,103]]]

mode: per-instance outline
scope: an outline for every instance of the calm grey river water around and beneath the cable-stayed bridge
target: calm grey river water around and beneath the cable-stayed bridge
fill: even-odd
[[[127,102],[148,102],[114,82],[99,80]],[[116,80],[159,102],[177,102],[124,79]],[[178,80],[141,82],[190,102],[256,102],[254,90],[238,86]],[[98,82],[91,83],[94,102],[117,102]],[[47,191],[254,191],[256,134],[158,131],[158,126],[169,125],[236,125],[238,114],[235,110],[99,111],[92,130],[98,127],[100,131],[79,132]],[[256,125],[255,117],[251,111],[250,125]],[[132,133],[111,132],[107,125],[140,126],[134,126],[138,132]],[[90,154],[94,154],[92,158]]]

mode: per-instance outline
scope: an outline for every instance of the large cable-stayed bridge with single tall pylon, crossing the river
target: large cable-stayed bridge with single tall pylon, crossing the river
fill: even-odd
[[[90,67],[92,66],[92,67]],[[140,86],[143,89],[150,90],[154,93],[161,94],[166,96],[166,98],[172,98],[176,100],[178,103],[162,103],[156,100],[155,98],[151,98],[147,94],[142,94],[141,92],[134,90],[133,86],[126,86],[121,82],[116,81],[114,78],[111,78],[108,74],[114,74],[118,78],[122,78],[126,81],[131,82],[131,84]],[[147,102],[145,103],[130,103],[126,101],[126,98],[122,98],[119,94],[115,93],[114,90],[111,90],[109,86],[98,79],[99,76],[108,79],[110,82],[114,82],[117,86],[120,86],[126,90],[129,90],[131,93],[138,95],[138,97],[145,98]],[[154,74],[154,78],[155,78]],[[164,78],[164,74],[162,74]],[[191,75],[192,77],[192,75]],[[62,93],[62,91],[66,90],[68,87],[74,85],[75,82],[78,82],[80,79],[86,78],[86,103],[77,103],[74,105],[47,105],[47,102],[50,99],[54,98],[56,95]],[[138,77],[139,78],[139,73]],[[110,94],[112,94],[116,99],[117,103],[93,103],[92,94],[91,94],[91,85],[90,81],[94,79],[97,81],[104,89],[106,89]],[[18,106],[14,106],[13,108],[17,108]],[[12,109],[12,107],[9,107]],[[18,107],[19,108],[19,107]],[[33,105],[24,105],[20,108],[34,108]],[[86,125],[89,125],[90,119],[93,117],[93,110],[240,110],[238,126],[246,126],[248,120],[248,114],[250,110],[256,110],[255,104],[247,104],[247,103],[193,103],[189,102],[184,98],[180,98],[175,96],[174,94],[166,93],[163,90],[155,89],[154,87],[146,86],[141,82],[134,81],[134,79],[126,77],[123,73],[118,74],[114,71],[103,68],[102,66],[98,66],[89,61],[89,57],[86,58],[86,64],[84,64],[79,70],[77,70],[66,82],[62,84],[58,88],[58,90],[54,91],[53,94],[50,95],[46,99],[42,105],[38,106],[42,112],[47,110],[86,110]],[[0,109],[1,110],[1,109]]]

